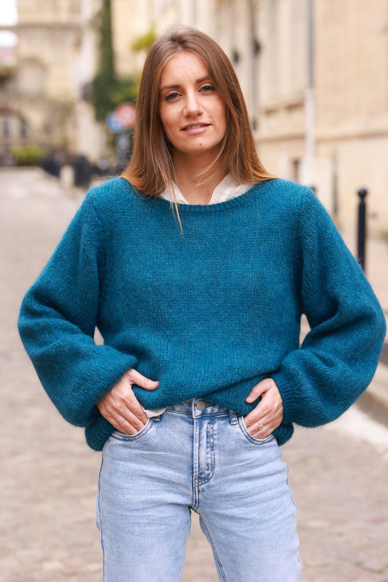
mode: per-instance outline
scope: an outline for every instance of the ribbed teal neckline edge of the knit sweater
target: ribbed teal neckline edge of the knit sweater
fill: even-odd
[[[126,187],[132,196],[139,197],[137,190],[135,190],[134,187],[131,186],[131,184],[125,178],[119,179],[125,182]],[[240,194],[234,198],[230,198],[230,200],[223,200],[222,202],[217,202],[215,204],[184,204],[178,202],[178,210],[182,213],[186,212],[186,214],[213,214],[213,212],[222,212],[224,210],[230,210],[231,208],[237,208],[250,201],[253,194],[258,193],[258,191],[262,191],[263,188],[266,189],[268,184],[274,180],[275,178],[270,178],[268,180],[262,180],[262,182],[257,182],[256,184],[252,184],[252,187],[243,194]],[[165,200],[165,198],[162,198],[161,196],[149,197],[143,193],[140,193],[140,197],[145,200],[153,200],[155,205],[159,204],[161,207],[165,207],[166,209],[170,208],[171,205],[175,207],[174,203],[172,204],[169,200]]]

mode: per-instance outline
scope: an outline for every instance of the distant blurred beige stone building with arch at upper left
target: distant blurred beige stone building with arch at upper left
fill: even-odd
[[[104,127],[88,101],[100,0],[18,0],[15,74],[1,84],[2,154],[42,145],[97,157]],[[6,130],[4,131],[4,128]]]

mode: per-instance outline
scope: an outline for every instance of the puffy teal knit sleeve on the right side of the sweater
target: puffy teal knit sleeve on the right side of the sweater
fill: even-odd
[[[308,188],[298,236],[301,306],[311,329],[271,378],[282,396],[283,422],[314,427],[339,417],[369,385],[386,323],[361,267]]]

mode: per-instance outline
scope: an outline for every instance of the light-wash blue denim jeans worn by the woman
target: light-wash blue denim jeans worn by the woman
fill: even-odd
[[[204,406],[205,404],[205,406]],[[191,510],[219,580],[300,582],[296,506],[275,437],[200,398],[113,431],[102,449],[96,522],[104,582],[179,582]]]

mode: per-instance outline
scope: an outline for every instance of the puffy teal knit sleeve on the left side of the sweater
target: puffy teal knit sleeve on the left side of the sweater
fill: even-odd
[[[92,192],[24,296],[18,322],[49,398],[78,426],[94,420],[99,398],[137,363],[130,354],[94,343],[105,261]]]

